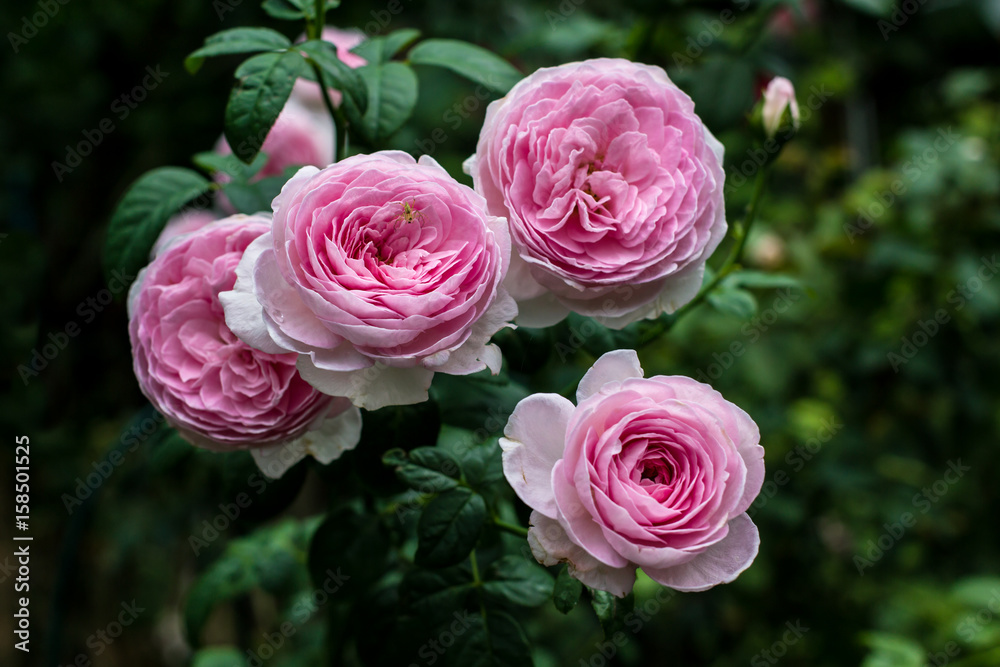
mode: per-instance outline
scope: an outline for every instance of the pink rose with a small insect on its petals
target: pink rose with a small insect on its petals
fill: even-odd
[[[426,400],[435,372],[499,372],[509,255],[506,221],[433,159],[356,155],[285,185],[221,298],[244,341],[374,410]]]

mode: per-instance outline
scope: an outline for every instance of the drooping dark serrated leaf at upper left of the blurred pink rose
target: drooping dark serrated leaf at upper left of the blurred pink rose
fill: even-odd
[[[226,141],[236,157],[250,163],[257,156],[305,67],[297,51],[263,53],[239,66],[226,105]]]

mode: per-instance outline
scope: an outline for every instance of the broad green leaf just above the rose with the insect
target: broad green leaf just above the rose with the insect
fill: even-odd
[[[368,87],[362,136],[377,145],[403,126],[417,105],[417,75],[402,63],[365,65],[356,70]]]

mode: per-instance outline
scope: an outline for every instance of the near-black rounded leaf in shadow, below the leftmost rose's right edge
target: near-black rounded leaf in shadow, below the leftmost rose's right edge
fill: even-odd
[[[350,508],[330,512],[309,545],[309,574],[319,588],[356,596],[386,570],[389,539],[382,525]]]

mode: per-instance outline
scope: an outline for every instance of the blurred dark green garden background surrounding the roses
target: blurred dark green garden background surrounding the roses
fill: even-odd
[[[663,66],[726,146],[730,220],[756,170],[745,115],[762,82],[789,77],[803,107],[748,264],[806,289],[754,290],[752,315],[703,306],[642,354],[647,374],[707,379],[760,425],[760,555],[737,582],[662,604],[640,581],[646,615],[611,659],[589,610],[533,611],[525,627],[537,664],[1000,665],[1000,2],[390,5],[345,0],[328,21],[466,39],[525,73],[593,56]],[[37,25],[46,8],[54,15]],[[245,516],[194,553],[189,536],[231,500],[231,466],[159,433],[121,440],[144,402],[122,302],[103,303],[100,248],[130,182],[190,165],[221,133],[236,61],[190,76],[184,56],[222,28],[298,28],[256,0],[17,1],[0,17],[0,662],[187,665],[181,610],[192,581],[228,540],[274,517]],[[115,100],[147,67],[162,82],[126,114]],[[431,152],[459,176],[488,100],[443,71],[419,74],[416,116],[392,143]],[[57,174],[53,162],[66,164],[105,118],[113,131]],[[446,140],[428,144],[436,128]],[[71,323],[79,333],[60,337]],[[570,345],[572,334],[556,332]],[[19,371],[53,340],[64,345],[44,368]],[[578,378],[593,360],[586,349],[568,367],[559,356],[543,355],[552,377]],[[527,363],[509,361],[515,372]],[[154,425],[151,414],[135,423]],[[32,461],[29,655],[12,648],[7,539],[22,434]],[[122,457],[104,475],[111,447]],[[67,508],[65,494],[95,471],[107,480]],[[269,491],[291,502],[282,516],[314,515],[337,494],[315,470],[299,473]],[[105,642],[97,633],[133,600],[143,611]],[[255,647],[275,613],[265,593],[240,597],[213,612],[205,642]],[[267,664],[317,664],[308,656],[323,616]]]

